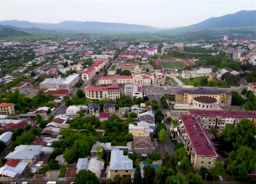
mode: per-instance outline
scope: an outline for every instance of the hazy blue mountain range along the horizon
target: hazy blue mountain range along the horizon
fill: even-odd
[[[104,34],[154,34],[154,35],[178,35],[187,32],[202,30],[252,30],[255,32],[256,10],[238,11],[221,17],[212,17],[197,24],[172,29],[158,29],[151,26],[106,23],[93,21],[63,21],[60,23],[33,23],[29,21],[4,20],[0,21],[0,35],[11,33],[13,35],[28,34],[66,34],[66,33],[104,33]],[[21,31],[21,32],[16,32]],[[22,33],[24,32],[24,33]]]

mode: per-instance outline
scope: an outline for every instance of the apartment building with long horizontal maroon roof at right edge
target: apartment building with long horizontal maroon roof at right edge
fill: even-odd
[[[208,111],[188,110],[205,129],[214,127],[224,129],[226,125],[236,126],[242,119],[249,119],[256,123],[255,111]]]

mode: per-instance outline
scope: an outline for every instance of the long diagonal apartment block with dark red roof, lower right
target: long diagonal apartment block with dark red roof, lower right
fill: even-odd
[[[179,133],[195,171],[214,166],[214,160],[218,159],[216,148],[193,115],[180,114]]]

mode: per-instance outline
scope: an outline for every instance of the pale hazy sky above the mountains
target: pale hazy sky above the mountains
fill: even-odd
[[[64,20],[181,27],[241,10],[256,1],[0,1],[1,20]]]

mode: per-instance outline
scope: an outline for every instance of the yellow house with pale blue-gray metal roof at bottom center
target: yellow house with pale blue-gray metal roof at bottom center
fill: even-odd
[[[132,160],[129,159],[127,155],[124,156],[124,151],[112,150],[109,170],[111,180],[115,180],[118,174],[121,176],[121,178],[125,178],[128,174],[130,174],[132,178]]]

